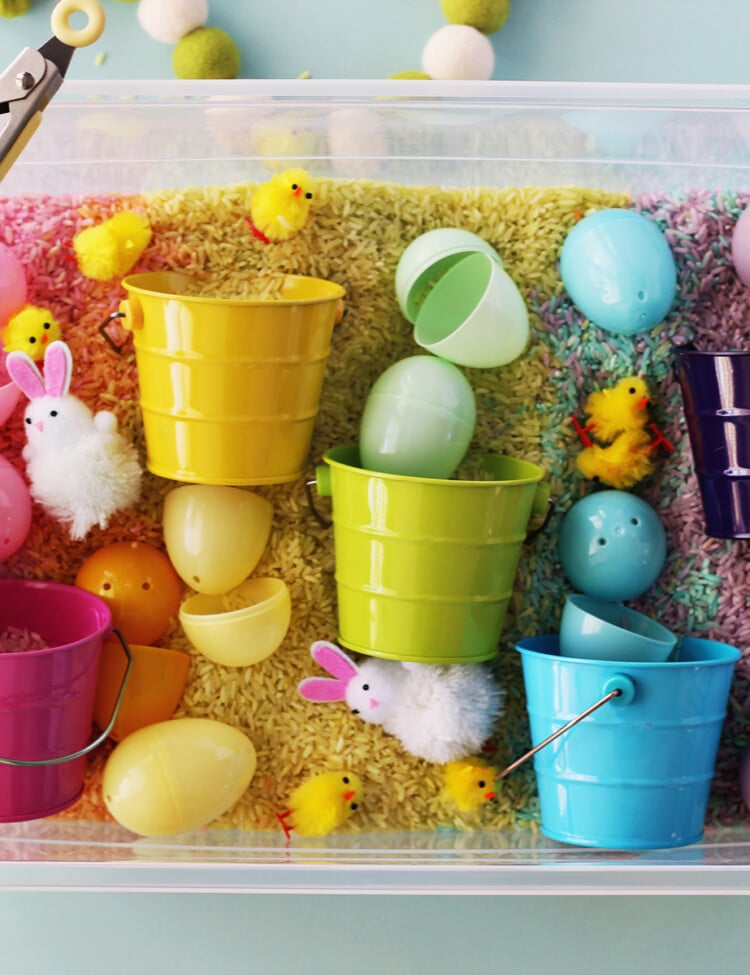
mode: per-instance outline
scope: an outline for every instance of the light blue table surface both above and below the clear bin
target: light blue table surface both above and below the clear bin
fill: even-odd
[[[172,49],[136,5],[104,0],[108,30],[70,77],[173,77]],[[49,36],[51,2],[0,20],[0,68]],[[420,66],[439,0],[210,0],[209,24],[242,53],[243,77],[383,78]],[[496,79],[750,81],[747,0],[514,0],[492,38]],[[103,63],[96,56],[104,55]],[[730,885],[731,886],[731,885]],[[408,890],[408,887],[406,888]],[[585,888],[581,888],[585,890]],[[0,971],[8,975],[731,975],[747,969],[746,896],[357,896],[19,888],[0,863]]]

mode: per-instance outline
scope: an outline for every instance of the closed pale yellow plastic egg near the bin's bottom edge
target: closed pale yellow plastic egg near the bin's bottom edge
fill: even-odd
[[[134,731],[102,778],[112,816],[141,836],[175,836],[225,813],[255,773],[252,742],[210,718],[176,718]]]

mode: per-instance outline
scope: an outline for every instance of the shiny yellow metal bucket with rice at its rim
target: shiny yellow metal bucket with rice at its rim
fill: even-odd
[[[343,288],[288,275],[277,298],[204,298],[173,271],[123,285],[148,469],[195,484],[300,477]]]

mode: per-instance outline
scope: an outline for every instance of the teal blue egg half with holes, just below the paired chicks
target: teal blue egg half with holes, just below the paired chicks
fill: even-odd
[[[563,518],[558,554],[578,592],[623,602],[656,582],[667,557],[667,534],[642,498],[628,491],[597,491]]]

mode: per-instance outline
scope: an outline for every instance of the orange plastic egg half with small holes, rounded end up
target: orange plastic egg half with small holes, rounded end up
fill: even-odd
[[[146,542],[113,542],[90,555],[75,584],[101,597],[129,643],[157,643],[169,629],[183,584],[167,556]]]

